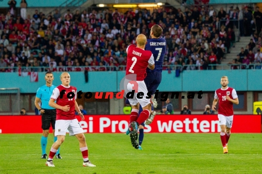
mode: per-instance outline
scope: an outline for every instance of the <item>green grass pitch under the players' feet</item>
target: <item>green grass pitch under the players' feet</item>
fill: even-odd
[[[219,133],[145,133],[143,150],[125,134],[85,134],[83,167],[75,137],[66,135],[54,168],[41,159],[41,134],[0,134],[0,174],[261,174],[262,134],[231,134],[223,154]],[[48,138],[47,154],[53,143]]]

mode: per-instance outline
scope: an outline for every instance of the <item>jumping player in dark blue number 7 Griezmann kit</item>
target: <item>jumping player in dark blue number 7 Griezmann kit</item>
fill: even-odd
[[[163,69],[162,65],[164,62],[164,55],[165,55],[166,46],[167,46],[165,39],[160,38],[162,33],[163,33],[163,29],[159,25],[153,25],[150,30],[151,39],[147,39],[147,44],[145,47],[145,50],[149,50],[152,52],[154,56],[154,60],[155,60],[155,69],[150,70],[149,68],[147,68],[147,77],[144,79],[145,84],[147,86],[147,91],[152,96],[151,102],[154,108],[157,107],[157,101],[154,98],[154,94],[162,80],[162,69]],[[128,102],[128,100],[126,102]],[[152,107],[152,111],[153,111],[153,107]],[[138,116],[140,115],[142,111],[143,109],[140,105]],[[147,125],[150,123],[151,122],[146,121]],[[139,138],[138,138],[139,150],[142,150],[141,145],[144,139],[144,127],[145,127],[145,123],[142,123],[141,125],[139,125]],[[129,133],[130,131],[128,130],[126,134],[128,135]]]

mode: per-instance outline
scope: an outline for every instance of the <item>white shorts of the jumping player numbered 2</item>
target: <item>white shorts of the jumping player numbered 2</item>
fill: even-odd
[[[136,105],[138,102],[139,102],[139,104],[142,106],[142,108],[143,107],[145,107],[145,106],[147,106],[147,104],[150,104],[151,102],[150,102],[150,99],[147,99],[146,97],[147,97],[147,86],[146,86],[146,84],[145,84],[145,82],[144,82],[144,80],[143,81],[136,81],[137,82],[137,84],[138,84],[138,89],[137,89],[137,91],[138,92],[143,92],[143,98],[142,99],[138,99],[136,96],[137,96],[137,93],[134,93],[134,97],[133,97],[133,99],[128,99],[129,100],[129,102],[130,102],[130,104],[131,105]],[[130,87],[130,88],[129,88]],[[128,91],[129,92],[132,92],[132,88],[131,88],[131,86],[128,86]],[[142,97],[142,96],[141,96]]]

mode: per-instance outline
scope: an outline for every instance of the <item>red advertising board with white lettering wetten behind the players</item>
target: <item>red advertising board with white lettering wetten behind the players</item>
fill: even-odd
[[[80,121],[85,133],[124,133],[129,126],[127,115],[88,115]],[[51,129],[51,128],[50,128]],[[157,115],[148,133],[220,132],[217,115]],[[260,115],[234,115],[232,132],[261,133]],[[42,133],[41,116],[0,116],[0,133]]]

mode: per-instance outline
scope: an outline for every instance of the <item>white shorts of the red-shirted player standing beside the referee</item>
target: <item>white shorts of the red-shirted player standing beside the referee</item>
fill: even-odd
[[[55,121],[55,136],[66,135],[67,130],[70,136],[83,133],[83,129],[77,119]]]

